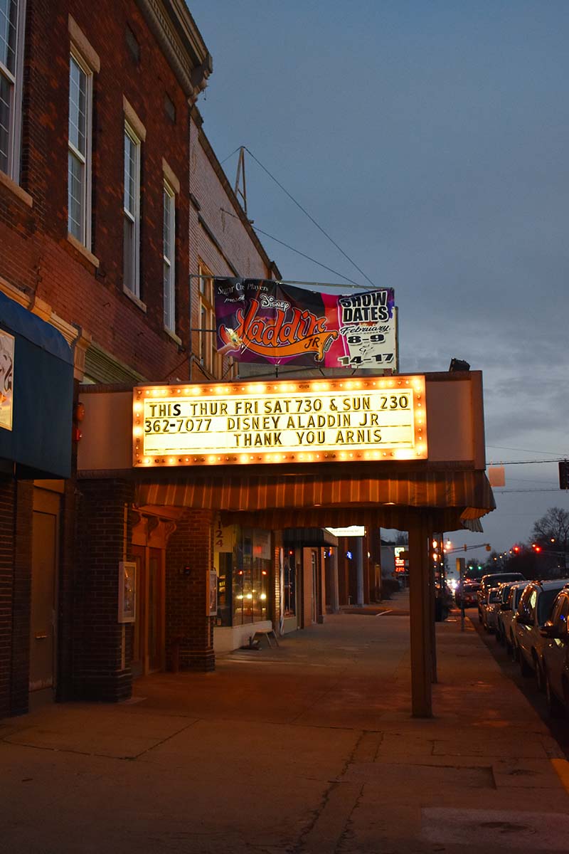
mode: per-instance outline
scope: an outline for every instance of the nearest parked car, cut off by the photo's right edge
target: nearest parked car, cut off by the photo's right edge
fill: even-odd
[[[563,717],[569,712],[569,588],[557,594],[551,616],[541,629],[543,681],[549,714]]]

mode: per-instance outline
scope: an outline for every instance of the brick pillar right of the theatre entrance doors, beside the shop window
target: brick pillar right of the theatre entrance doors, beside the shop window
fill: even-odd
[[[213,617],[207,616],[213,565],[213,512],[188,510],[166,552],[166,657],[170,670],[214,670]]]

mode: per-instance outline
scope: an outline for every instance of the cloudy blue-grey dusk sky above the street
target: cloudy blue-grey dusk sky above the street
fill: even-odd
[[[204,130],[231,184],[247,146],[374,286],[395,289],[400,372],[446,371],[453,356],[483,371],[489,465],[549,460],[507,465],[484,534],[450,539],[527,541],[550,506],[569,510],[554,462],[569,453],[569,3],[189,9],[213,56]],[[282,277],[371,287],[246,157],[254,226],[335,272],[259,234]]]

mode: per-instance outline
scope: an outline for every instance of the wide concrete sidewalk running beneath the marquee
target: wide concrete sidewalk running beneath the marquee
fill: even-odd
[[[473,624],[437,624],[414,719],[405,594],[383,605],[4,719],[0,852],[567,851],[566,758]]]

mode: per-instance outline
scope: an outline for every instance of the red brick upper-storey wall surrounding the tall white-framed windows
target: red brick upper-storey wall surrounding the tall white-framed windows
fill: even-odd
[[[28,3],[22,185],[28,208],[0,185],[0,275],[36,291],[62,318],[81,325],[117,359],[159,381],[181,361],[163,330],[162,158],[180,181],[177,196],[177,314],[189,336],[189,108],[134,0]],[[94,77],[92,246],[90,264],[67,241],[67,114],[71,13],[100,56]],[[140,62],[125,44],[126,26]],[[165,95],[176,124],[165,117]],[[123,96],[147,130],[142,143],[141,290],[144,313],[123,293]],[[185,376],[188,376],[186,366]]]

